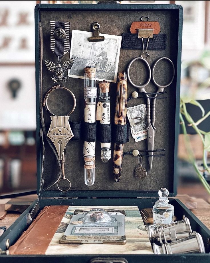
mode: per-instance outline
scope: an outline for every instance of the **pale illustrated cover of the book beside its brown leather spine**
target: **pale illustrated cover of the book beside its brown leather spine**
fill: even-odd
[[[59,244],[60,238],[64,235],[75,210],[91,210],[93,208],[102,208],[112,212],[113,216],[118,215],[121,209],[125,216],[125,235],[126,244]],[[80,212],[82,213],[82,211]],[[69,206],[61,223],[55,232],[45,254],[153,254],[152,246],[148,238],[140,211],[136,206]]]

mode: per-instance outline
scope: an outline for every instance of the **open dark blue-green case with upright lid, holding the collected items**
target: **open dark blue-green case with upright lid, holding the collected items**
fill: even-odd
[[[73,205],[73,206],[138,206],[152,208],[158,197],[158,190],[166,187],[169,196],[176,195],[176,156],[177,140],[179,133],[179,89],[180,89],[180,66],[181,66],[181,38],[182,38],[182,7],[179,5],[119,5],[119,4],[98,4],[98,5],[52,5],[40,4],[35,7],[35,31],[36,31],[36,91],[37,91],[37,189],[39,189],[39,199],[35,201],[26,211],[11,225],[11,227],[0,237],[0,247],[6,250],[8,239],[10,245],[15,244],[17,239],[25,231],[33,219],[37,217],[39,211],[49,205]],[[100,142],[96,142],[96,177],[92,186],[84,184],[84,158],[82,156],[83,140],[71,140],[66,148],[66,178],[71,181],[72,187],[67,192],[58,191],[56,184],[59,169],[54,153],[43,136],[41,125],[41,114],[47,129],[50,126],[50,114],[42,108],[43,97],[53,86],[51,72],[47,70],[44,60],[55,61],[54,54],[50,50],[50,21],[70,21],[72,29],[91,31],[93,22],[98,22],[101,26],[100,32],[104,34],[121,35],[130,33],[130,25],[133,21],[140,21],[142,16],[150,17],[150,21],[160,23],[160,33],[166,34],[166,47],[164,50],[149,50],[150,65],[158,58],[165,56],[170,58],[175,65],[175,78],[173,83],[167,87],[164,99],[157,100],[156,103],[156,136],[155,149],[165,149],[165,156],[154,157],[153,169],[148,173],[146,179],[136,180],[134,170],[138,166],[138,160],[132,155],[127,155],[123,159],[122,176],[118,183],[113,181],[112,160],[104,164],[100,160]],[[43,39],[40,38],[43,32]],[[135,57],[140,56],[142,50],[122,49],[120,50],[120,60],[118,72],[127,71],[128,63]],[[42,55],[43,54],[43,55]],[[69,58],[69,53],[64,59]],[[83,69],[81,69],[83,70]],[[146,79],[146,68],[142,63],[136,63],[132,67],[132,79],[138,83],[142,78]],[[167,82],[167,74],[158,71],[158,78],[163,83]],[[143,79],[144,81],[144,79]],[[165,81],[165,82],[164,82]],[[76,109],[70,115],[70,121],[83,120],[83,87],[84,80],[70,78],[66,87],[71,89],[76,97]],[[147,86],[147,92],[155,92],[152,82]],[[128,81],[128,97],[136,91]],[[113,121],[116,83],[110,83],[111,92],[111,119]],[[128,102],[128,107],[144,103],[144,98],[132,99]],[[56,98],[55,98],[55,107]],[[130,136],[131,137],[131,136]],[[45,145],[43,151],[42,142]],[[146,150],[146,140],[135,143],[134,139],[124,144],[124,151],[133,149]],[[113,151],[113,142],[112,142]],[[98,154],[97,154],[98,152]],[[112,153],[113,154],[113,153]],[[44,156],[44,162],[43,162]],[[144,167],[148,170],[148,160],[144,157]],[[41,178],[42,177],[42,178]],[[41,184],[40,184],[41,182]],[[51,186],[52,185],[52,186]],[[49,187],[50,186],[50,187]],[[170,199],[175,207],[175,215],[181,219],[185,215],[193,231],[201,234],[206,254],[173,254],[173,255],[153,255],[153,254],[74,254],[74,255],[1,255],[1,262],[91,262],[95,258],[104,258],[100,262],[209,262],[209,237],[210,231],[185,207],[179,200]],[[123,245],[122,245],[123,246]],[[26,248],[27,249],[27,248]],[[114,259],[115,258],[115,261]],[[126,261],[127,260],[127,261]],[[99,262],[97,260],[93,262]]]

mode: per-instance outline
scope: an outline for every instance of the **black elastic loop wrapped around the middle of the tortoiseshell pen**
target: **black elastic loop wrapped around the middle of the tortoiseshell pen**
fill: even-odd
[[[129,142],[130,127],[126,125],[114,125],[113,127],[113,141],[117,144]]]

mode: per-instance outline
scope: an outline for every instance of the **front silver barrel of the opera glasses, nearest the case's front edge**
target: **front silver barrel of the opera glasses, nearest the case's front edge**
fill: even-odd
[[[175,242],[161,244],[153,243],[154,254],[185,254],[185,253],[205,253],[205,247],[201,235],[193,232],[189,237],[179,239]]]

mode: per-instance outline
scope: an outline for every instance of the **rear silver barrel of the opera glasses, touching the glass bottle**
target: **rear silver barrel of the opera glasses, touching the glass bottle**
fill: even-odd
[[[181,238],[189,237],[192,233],[192,229],[189,223],[189,219],[183,215],[183,219],[163,225],[163,226],[147,226],[148,237],[150,241],[162,242],[174,242]]]

